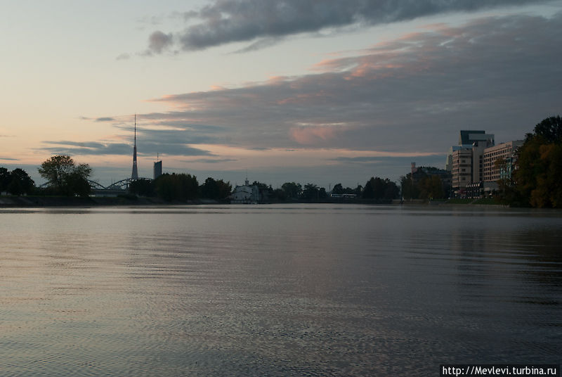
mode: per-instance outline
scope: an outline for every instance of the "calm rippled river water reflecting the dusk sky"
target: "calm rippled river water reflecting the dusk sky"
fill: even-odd
[[[0,236],[0,376],[561,362],[561,212],[18,209]]]

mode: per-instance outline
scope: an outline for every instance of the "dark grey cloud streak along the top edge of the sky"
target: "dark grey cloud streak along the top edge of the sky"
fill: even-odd
[[[215,0],[200,11],[184,13],[198,18],[175,37],[184,51],[207,49],[234,41],[279,38],[326,27],[377,25],[453,11],[476,11],[497,6],[536,3],[536,0]],[[152,41],[155,37],[155,41]],[[150,51],[161,53],[171,34],[155,32]],[[251,51],[260,46],[260,41]],[[244,51],[243,50],[243,51]]]

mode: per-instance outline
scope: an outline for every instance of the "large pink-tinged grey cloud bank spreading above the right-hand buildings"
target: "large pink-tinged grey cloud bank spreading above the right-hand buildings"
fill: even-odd
[[[147,122],[244,148],[353,148],[435,153],[458,129],[517,139],[560,112],[562,13],[483,18],[388,41],[318,72],[236,89],[166,96]],[[187,110],[188,109],[188,110]],[[143,115],[144,117],[144,115]],[[183,137],[183,136],[182,136]]]

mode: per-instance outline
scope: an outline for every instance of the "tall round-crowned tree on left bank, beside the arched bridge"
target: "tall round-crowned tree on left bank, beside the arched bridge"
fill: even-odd
[[[66,196],[88,196],[91,172],[88,164],[75,165],[69,155],[53,155],[39,167],[39,174],[54,188],[55,193]]]

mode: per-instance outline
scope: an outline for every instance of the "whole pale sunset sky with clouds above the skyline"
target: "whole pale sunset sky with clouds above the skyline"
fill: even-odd
[[[562,0],[0,0],[0,166],[330,188],[562,114]]]

